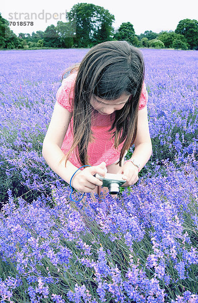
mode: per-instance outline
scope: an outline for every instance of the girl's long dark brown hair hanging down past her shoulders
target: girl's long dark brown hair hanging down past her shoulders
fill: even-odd
[[[74,139],[61,161],[66,159],[66,166],[75,150],[79,163],[90,165],[87,148],[94,139],[91,95],[114,100],[126,94],[129,95],[128,101],[121,110],[115,111],[115,119],[109,129],[109,132],[113,131],[115,148],[124,141],[118,162],[121,166],[125,150],[133,145],[137,133],[138,105],[145,73],[142,53],[126,41],[107,41],[90,48],[81,63],[71,68],[73,70],[77,71],[72,100]]]

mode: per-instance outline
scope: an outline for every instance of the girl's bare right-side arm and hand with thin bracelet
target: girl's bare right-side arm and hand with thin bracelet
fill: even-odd
[[[149,161],[152,155],[152,142],[149,132],[149,121],[147,118],[147,106],[138,111],[137,118],[137,136],[134,141],[135,149],[131,159],[139,164],[139,170]],[[138,168],[131,162],[126,162],[122,168],[122,172],[127,182],[122,186],[133,185],[138,180]]]

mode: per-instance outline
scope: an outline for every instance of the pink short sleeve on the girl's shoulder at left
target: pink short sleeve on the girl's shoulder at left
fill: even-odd
[[[73,74],[70,74],[67,78],[63,79],[61,86],[59,87],[56,99],[57,102],[72,113],[72,98],[74,93],[75,78]]]

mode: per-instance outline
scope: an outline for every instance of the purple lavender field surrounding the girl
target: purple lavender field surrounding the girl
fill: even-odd
[[[82,204],[42,142],[87,51],[0,51],[1,302],[198,302],[198,52],[142,49],[153,155],[119,198]]]

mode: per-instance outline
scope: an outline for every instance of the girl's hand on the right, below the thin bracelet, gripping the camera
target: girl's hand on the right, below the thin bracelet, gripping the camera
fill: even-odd
[[[134,166],[131,162],[126,162],[122,167],[123,179],[126,182],[122,185],[123,187],[131,186],[137,182],[138,168]]]

